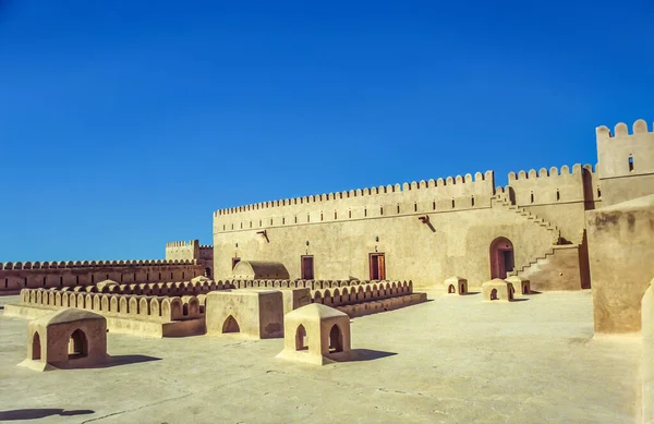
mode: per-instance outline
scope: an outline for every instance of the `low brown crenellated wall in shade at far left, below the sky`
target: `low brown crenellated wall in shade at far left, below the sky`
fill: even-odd
[[[204,271],[204,265],[192,261],[4,263],[0,265],[0,294],[23,288],[83,287],[108,279],[119,283],[184,280]]]

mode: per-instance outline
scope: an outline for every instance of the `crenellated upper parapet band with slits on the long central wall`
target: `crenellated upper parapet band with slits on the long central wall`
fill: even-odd
[[[465,210],[488,207],[494,174],[475,173],[447,179],[312,195],[220,209],[214,233],[265,230],[278,226],[366,219],[385,216]]]

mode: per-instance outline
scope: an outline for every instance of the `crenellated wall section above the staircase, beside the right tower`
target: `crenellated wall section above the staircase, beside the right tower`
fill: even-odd
[[[562,166],[560,171],[552,167],[517,174],[509,172],[509,197],[516,205],[556,225],[564,239],[580,243],[585,228],[584,211],[586,207],[594,207],[594,198],[586,194],[589,183],[584,183],[589,168],[592,175],[590,165],[582,167],[579,163],[572,169]]]

